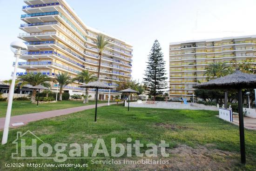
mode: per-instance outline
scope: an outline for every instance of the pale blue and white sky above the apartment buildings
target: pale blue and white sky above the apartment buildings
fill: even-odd
[[[169,42],[256,34],[255,0],[67,0],[84,23],[134,46],[134,79],[142,81],[158,39],[168,73]],[[0,80],[10,79],[9,45],[22,33],[22,0],[0,0]],[[22,70],[19,70],[22,71]]]

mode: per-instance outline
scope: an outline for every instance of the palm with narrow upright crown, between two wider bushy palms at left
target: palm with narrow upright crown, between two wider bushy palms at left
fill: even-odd
[[[71,79],[71,76],[67,72],[61,72],[61,73],[59,72],[59,74],[56,75],[54,81],[60,84],[59,100],[62,101],[62,93],[63,93],[64,86],[71,84],[73,80]]]

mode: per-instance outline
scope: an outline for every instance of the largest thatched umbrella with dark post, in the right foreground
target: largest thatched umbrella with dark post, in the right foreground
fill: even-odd
[[[199,89],[236,89],[238,94],[238,113],[239,113],[239,131],[240,131],[240,152],[241,162],[245,164],[245,144],[244,144],[244,127],[243,127],[243,103],[242,89],[253,88],[256,86],[256,75],[243,73],[236,70],[233,74],[213,79],[208,82],[194,85]]]

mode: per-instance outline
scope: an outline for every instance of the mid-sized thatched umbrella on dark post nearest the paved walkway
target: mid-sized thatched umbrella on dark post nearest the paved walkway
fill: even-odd
[[[102,83],[100,80],[89,82],[85,85],[80,85],[79,87],[83,88],[96,88],[96,104],[95,104],[95,118],[94,121],[97,122],[97,105],[98,105],[98,91],[99,89],[113,89],[112,86]]]

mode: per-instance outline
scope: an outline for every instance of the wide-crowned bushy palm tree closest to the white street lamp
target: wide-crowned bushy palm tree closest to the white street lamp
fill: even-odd
[[[22,87],[23,85],[43,85],[45,87],[50,88],[51,85],[48,83],[48,81],[52,81],[52,79],[50,77],[48,77],[47,75],[43,75],[42,73],[28,73],[27,75],[20,75],[18,77],[18,79],[20,79],[22,81],[20,87]],[[36,95],[36,90],[33,89],[32,92],[32,96],[31,96],[31,101],[35,101],[35,95]]]

